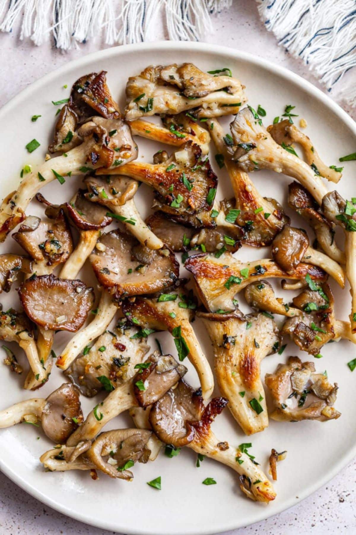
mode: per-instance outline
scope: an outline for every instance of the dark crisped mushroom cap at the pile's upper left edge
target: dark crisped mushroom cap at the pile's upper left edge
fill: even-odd
[[[61,109],[58,116],[49,151],[65,152],[80,144],[81,138],[76,133],[77,126],[95,115],[107,119],[120,118],[118,106],[106,84],[106,71],[86,74],[74,82],[69,102]],[[67,143],[63,143],[68,132],[72,132],[73,137]]]

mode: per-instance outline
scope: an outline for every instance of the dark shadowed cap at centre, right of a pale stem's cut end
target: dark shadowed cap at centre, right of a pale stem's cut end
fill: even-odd
[[[168,219],[163,213],[155,212],[146,219],[146,224],[172,251],[187,251],[193,238],[194,229],[179,225]]]

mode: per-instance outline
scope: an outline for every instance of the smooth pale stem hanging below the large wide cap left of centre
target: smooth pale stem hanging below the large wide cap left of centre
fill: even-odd
[[[103,291],[96,316],[89,325],[78,331],[67,343],[64,351],[62,351],[62,354],[57,359],[56,365],[58,368],[66,370],[84,347],[105,331],[114,318],[116,311],[117,307],[113,303],[112,297],[106,291]]]

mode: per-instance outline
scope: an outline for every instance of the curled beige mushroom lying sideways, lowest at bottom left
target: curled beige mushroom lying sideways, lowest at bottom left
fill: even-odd
[[[132,480],[135,462],[147,462],[147,447],[152,432],[137,429],[115,429],[101,433],[91,444],[84,441],[76,447],[60,446],[45,452],[39,460],[51,471],[101,470],[108,476]]]

